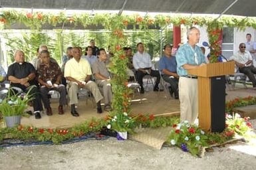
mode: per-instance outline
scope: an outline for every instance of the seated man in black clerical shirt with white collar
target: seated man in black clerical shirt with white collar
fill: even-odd
[[[40,119],[40,111],[43,110],[43,106],[41,104],[40,92],[37,88],[38,84],[35,80],[35,68],[29,62],[25,62],[25,54],[22,50],[15,50],[14,57],[15,62],[9,66],[7,72],[7,78],[11,83],[10,86],[14,90],[19,89],[23,92],[27,92],[30,88],[33,88],[31,94],[34,95],[33,108],[35,118]]]

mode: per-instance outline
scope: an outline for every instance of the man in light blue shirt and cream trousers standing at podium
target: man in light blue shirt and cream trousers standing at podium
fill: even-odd
[[[180,121],[188,120],[193,124],[198,116],[197,76],[189,75],[187,70],[203,66],[206,61],[201,48],[196,45],[200,38],[199,29],[191,27],[187,37],[188,42],[176,54],[177,73],[180,76]]]

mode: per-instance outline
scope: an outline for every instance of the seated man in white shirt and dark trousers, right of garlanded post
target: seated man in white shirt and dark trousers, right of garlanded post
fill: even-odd
[[[156,84],[154,86],[154,91],[158,91],[158,84],[160,83],[160,74],[156,70],[152,70],[152,62],[150,55],[146,52],[144,52],[144,45],[142,42],[139,42],[137,44],[138,52],[134,54],[132,58],[132,64],[134,64],[134,68],[136,70],[136,78],[138,81],[138,84],[140,84],[140,93],[144,93],[143,88],[143,77],[145,75],[150,75],[156,77]]]

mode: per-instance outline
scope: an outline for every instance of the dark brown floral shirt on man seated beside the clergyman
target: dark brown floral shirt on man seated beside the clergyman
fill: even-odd
[[[39,65],[39,68],[37,69],[37,76],[44,82],[47,82],[47,80],[51,80],[51,82],[54,84],[57,81],[58,76],[62,74],[61,68],[59,65],[55,62],[50,61],[50,66],[47,67],[47,65],[41,63]]]

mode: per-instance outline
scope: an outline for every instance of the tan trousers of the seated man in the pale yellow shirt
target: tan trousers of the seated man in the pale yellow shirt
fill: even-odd
[[[100,94],[100,90],[98,90],[98,86],[95,82],[88,82],[87,84],[84,85],[84,87],[79,87],[76,82],[68,82],[68,96],[70,98],[69,104],[77,104],[78,103],[78,98],[77,98],[77,93],[79,88],[85,88],[92,92],[92,95],[94,96],[94,99],[96,103],[98,103],[100,100],[102,100],[102,95]]]

